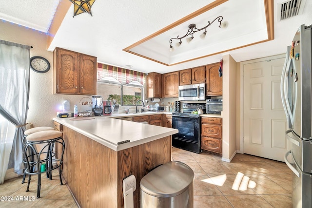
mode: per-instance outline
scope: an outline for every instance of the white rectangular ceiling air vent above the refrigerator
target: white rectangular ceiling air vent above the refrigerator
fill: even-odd
[[[277,20],[281,21],[302,14],[305,3],[306,0],[289,0],[279,3],[276,13],[278,15]]]

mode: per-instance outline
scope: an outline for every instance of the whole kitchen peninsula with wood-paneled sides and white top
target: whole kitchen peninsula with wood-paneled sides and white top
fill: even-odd
[[[78,205],[123,207],[122,180],[133,174],[139,208],[141,178],[171,161],[171,135],[178,131],[105,116],[71,119],[53,118],[65,141],[62,176]]]

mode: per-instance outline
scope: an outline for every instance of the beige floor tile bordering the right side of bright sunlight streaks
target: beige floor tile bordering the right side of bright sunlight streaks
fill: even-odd
[[[247,176],[250,180],[255,182],[254,191],[257,192],[257,194],[291,194],[290,191],[284,189],[262,174]]]

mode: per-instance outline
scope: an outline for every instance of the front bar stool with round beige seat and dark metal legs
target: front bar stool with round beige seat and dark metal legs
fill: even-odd
[[[65,150],[65,143],[62,139],[62,133],[59,131],[42,131],[36,132],[27,136],[27,141],[24,145],[25,161],[27,168],[25,169],[28,174],[28,184],[26,192],[29,191],[29,185],[31,181],[31,175],[38,175],[37,183],[37,198],[40,198],[41,189],[41,173],[47,173],[47,178],[52,180],[52,170],[59,169],[60,185],[63,185],[61,178],[61,168],[63,164],[63,154]],[[61,147],[60,158],[56,158],[56,152],[54,151],[55,144]],[[59,150],[58,150],[59,151]],[[33,153],[30,153],[33,152]],[[32,159],[32,156],[34,157]],[[56,164],[53,166],[53,162]],[[45,170],[41,168],[41,164],[45,164]]]

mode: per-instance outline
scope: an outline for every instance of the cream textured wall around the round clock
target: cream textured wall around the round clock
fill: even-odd
[[[47,36],[45,34],[9,22],[0,21],[0,39],[33,46],[30,50],[30,57],[42,56],[47,58],[51,64],[50,71],[44,74],[30,70],[30,95],[27,122],[33,123],[35,127],[53,127],[52,118],[56,117],[57,111],[59,111],[58,108],[65,99],[70,100],[71,111],[74,111],[74,105],[78,105],[79,100],[84,96],[53,94],[53,53],[46,49]]]

